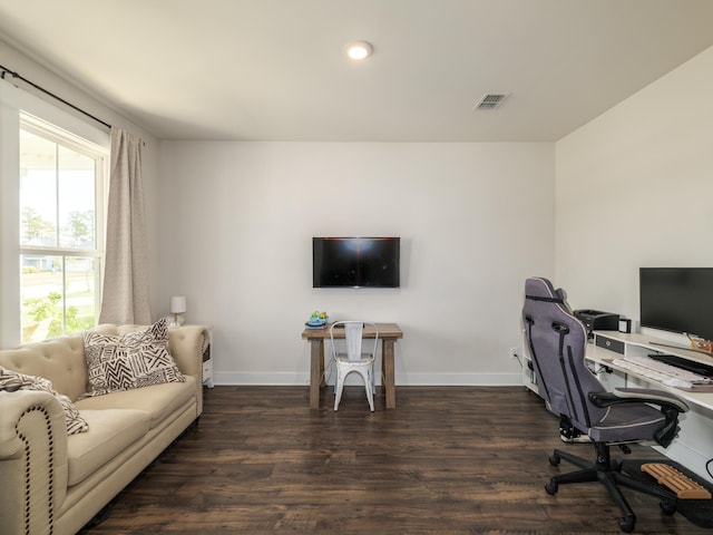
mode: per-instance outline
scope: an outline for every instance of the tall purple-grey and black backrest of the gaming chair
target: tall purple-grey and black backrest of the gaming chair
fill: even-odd
[[[549,409],[579,430],[598,422],[607,409],[594,406],[589,392],[605,391],[585,363],[587,332],[561,290],[543,278],[525,282],[522,324],[537,386]]]

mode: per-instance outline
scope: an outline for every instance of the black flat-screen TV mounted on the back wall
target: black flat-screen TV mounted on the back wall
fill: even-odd
[[[399,237],[313,237],[313,288],[398,288]]]

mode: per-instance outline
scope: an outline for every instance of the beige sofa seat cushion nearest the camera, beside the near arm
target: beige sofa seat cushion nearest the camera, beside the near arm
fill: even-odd
[[[67,440],[68,486],[94,474],[148,432],[150,414],[137,409],[82,409],[89,432]]]

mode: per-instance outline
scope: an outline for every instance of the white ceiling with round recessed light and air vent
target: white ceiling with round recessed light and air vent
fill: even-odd
[[[711,0],[0,0],[0,40],[162,139],[551,142],[712,28]]]

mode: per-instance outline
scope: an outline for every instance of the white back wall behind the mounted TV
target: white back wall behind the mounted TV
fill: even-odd
[[[553,144],[162,142],[160,292],[218,382],[304,385],[312,310],[398,322],[400,385],[517,383],[522,284],[554,273]],[[312,289],[315,235],[398,235],[402,288]]]

